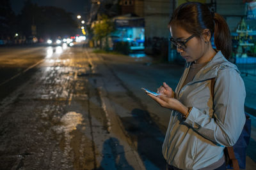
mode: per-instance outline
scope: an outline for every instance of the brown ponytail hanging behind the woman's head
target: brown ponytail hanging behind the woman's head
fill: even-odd
[[[214,14],[214,44],[217,50],[221,50],[226,59],[232,52],[232,41],[227,22],[220,14]]]

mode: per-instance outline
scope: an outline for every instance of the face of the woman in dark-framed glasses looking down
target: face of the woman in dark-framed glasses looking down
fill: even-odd
[[[182,27],[176,24],[172,24],[170,26],[170,32],[172,38],[176,41],[184,41],[192,36],[192,34],[188,33],[182,29]],[[194,36],[187,41],[186,48],[182,49],[177,46],[177,52],[180,53],[180,55],[186,59],[187,62],[195,61],[196,63],[200,63],[200,60],[202,57],[204,57],[206,52],[205,42],[203,39]]]

